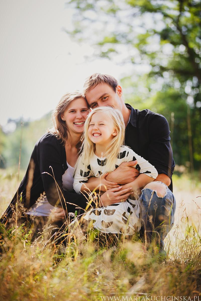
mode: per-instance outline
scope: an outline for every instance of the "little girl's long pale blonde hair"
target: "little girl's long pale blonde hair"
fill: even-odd
[[[88,129],[92,116],[99,112],[103,112],[108,116],[108,118],[112,120],[114,128],[117,131],[117,135],[114,136],[114,138],[111,140],[111,143],[105,149],[104,155],[107,160],[104,168],[104,173],[106,173],[114,170],[120,147],[122,144],[124,144],[125,135],[125,124],[123,116],[119,110],[113,109],[111,107],[97,107],[93,109],[87,116],[84,124],[84,141],[81,148],[81,156],[77,160],[76,165],[80,165],[81,162],[83,164],[83,168],[86,169],[87,165],[90,162],[90,158],[96,150],[96,144],[94,144],[88,137]]]

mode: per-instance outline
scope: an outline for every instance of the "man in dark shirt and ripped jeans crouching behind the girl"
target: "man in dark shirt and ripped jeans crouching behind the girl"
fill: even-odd
[[[139,111],[125,104],[121,86],[113,76],[107,74],[95,73],[88,77],[83,93],[92,109],[111,106],[121,111],[126,126],[125,145],[157,169],[158,177],[145,186],[140,196],[141,236],[144,235],[145,242],[151,242],[155,237],[159,249],[163,249],[163,240],[174,223],[176,207],[171,180],[175,164],[167,120],[150,110]],[[139,175],[139,171],[133,168],[136,165],[134,160],[135,158],[131,162],[122,163],[115,171],[110,172],[106,179],[121,185],[132,182]]]

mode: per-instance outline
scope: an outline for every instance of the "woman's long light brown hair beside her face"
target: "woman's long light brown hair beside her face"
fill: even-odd
[[[63,144],[65,144],[65,140],[68,138],[69,132],[68,132],[68,126],[66,125],[66,122],[61,119],[61,114],[64,113],[68,105],[71,103],[71,101],[77,99],[77,98],[83,98],[83,95],[79,91],[75,92],[68,92],[65,95],[63,95],[58,102],[57,107],[55,108],[53,114],[52,114],[52,120],[54,124],[54,128],[51,130],[51,132],[58,138],[61,139]]]

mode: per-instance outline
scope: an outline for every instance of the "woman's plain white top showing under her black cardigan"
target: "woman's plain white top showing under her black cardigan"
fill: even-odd
[[[74,172],[74,167],[72,167],[71,165],[68,164],[68,168],[66,169],[66,171],[64,172],[64,174],[62,175],[62,182],[63,182],[63,186],[62,188],[64,190],[68,190],[68,191],[73,191],[73,172]],[[33,206],[31,208],[28,209],[28,211],[26,212],[29,215],[34,215],[34,216],[49,216],[51,213],[52,209],[55,209],[56,207],[52,206],[46,196],[43,197],[42,200],[40,200],[39,202],[33,204]]]

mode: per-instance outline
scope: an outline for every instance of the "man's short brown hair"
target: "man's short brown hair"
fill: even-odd
[[[108,84],[115,92],[118,86],[117,80],[108,74],[94,73],[86,79],[83,87],[83,96],[85,97],[86,93],[95,88],[100,83]]]

